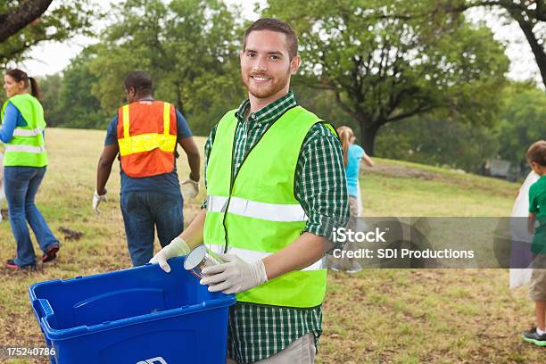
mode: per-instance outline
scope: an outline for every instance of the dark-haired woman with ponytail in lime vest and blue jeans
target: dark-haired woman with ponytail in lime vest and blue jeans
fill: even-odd
[[[4,192],[12,233],[17,242],[17,256],[6,261],[6,267],[35,269],[36,255],[27,221],[44,252],[42,262],[53,261],[60,246],[34,204],[47,166],[44,109],[38,101],[36,80],[22,70],[5,72],[4,90],[8,97],[2,106],[0,129],[0,141],[5,147]]]

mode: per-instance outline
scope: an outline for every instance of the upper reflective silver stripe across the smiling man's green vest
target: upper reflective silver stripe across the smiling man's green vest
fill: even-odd
[[[227,197],[207,196],[207,211],[225,212],[226,205]],[[259,203],[239,197],[231,197],[227,212],[247,218],[280,222],[307,221],[309,219],[299,203]]]

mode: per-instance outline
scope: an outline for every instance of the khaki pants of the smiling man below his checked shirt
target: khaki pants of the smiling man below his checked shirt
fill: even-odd
[[[309,333],[303,335],[287,347],[282,352],[266,358],[255,361],[256,364],[313,364],[315,362],[315,335]],[[236,364],[236,361],[227,358],[226,364]]]

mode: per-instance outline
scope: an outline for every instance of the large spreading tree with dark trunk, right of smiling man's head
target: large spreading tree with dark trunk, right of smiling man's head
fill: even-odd
[[[294,81],[333,91],[373,154],[387,123],[428,112],[481,125],[494,121],[491,95],[508,70],[503,47],[489,29],[473,27],[462,15],[434,12],[435,3],[269,0],[264,13],[288,21],[299,34],[302,67]]]

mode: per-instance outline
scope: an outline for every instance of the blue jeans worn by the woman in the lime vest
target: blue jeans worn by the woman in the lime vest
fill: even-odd
[[[30,240],[27,221],[43,252],[51,245],[59,244],[59,240],[47,226],[44,217],[34,204],[34,198],[44,175],[45,167],[4,167],[5,197],[12,233],[17,242],[15,264],[20,267],[36,263],[36,254]]]

